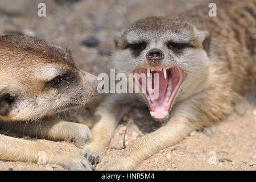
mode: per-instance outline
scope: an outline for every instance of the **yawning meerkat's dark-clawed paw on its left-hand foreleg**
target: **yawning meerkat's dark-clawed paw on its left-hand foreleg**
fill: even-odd
[[[88,159],[91,164],[98,164],[106,154],[107,148],[100,146],[100,144],[89,143],[82,149],[81,155]]]

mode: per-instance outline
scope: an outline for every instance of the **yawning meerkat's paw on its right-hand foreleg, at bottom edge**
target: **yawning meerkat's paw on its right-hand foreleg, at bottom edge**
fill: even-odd
[[[106,165],[101,168],[101,171],[130,171],[135,168],[135,164],[132,159],[117,156],[110,162],[106,163]]]

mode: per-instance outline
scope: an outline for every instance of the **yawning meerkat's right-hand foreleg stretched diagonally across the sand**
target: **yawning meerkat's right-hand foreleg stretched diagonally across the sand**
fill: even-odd
[[[176,144],[195,129],[185,118],[174,117],[166,126],[127,146],[121,155],[107,163],[102,170],[134,169],[144,159]]]

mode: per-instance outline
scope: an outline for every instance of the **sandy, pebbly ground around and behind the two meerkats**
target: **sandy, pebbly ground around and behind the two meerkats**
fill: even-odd
[[[37,16],[37,5],[45,2],[47,16]],[[60,2],[60,1],[59,1]],[[96,3],[97,2],[97,3]],[[193,9],[196,1],[94,1],[84,0],[72,5],[55,1],[0,0],[0,34],[28,34],[48,43],[68,46],[76,63],[85,71],[97,75],[112,68],[110,55],[115,32],[139,18],[149,15],[172,16]],[[206,7],[207,8],[207,7]],[[82,40],[93,36],[100,44],[88,48]],[[79,109],[64,114],[67,121],[85,123],[92,127],[92,114],[99,101],[92,101]],[[122,140],[127,123],[126,144],[158,127],[159,122],[148,116],[143,107],[134,109],[123,118],[115,131],[107,155],[96,167],[100,169],[122,152]],[[203,131],[193,131],[176,146],[166,148],[138,166],[139,170],[255,170],[256,169],[256,107],[243,98],[236,111],[223,122]],[[11,131],[10,131],[11,133]],[[7,134],[10,134],[7,133]],[[55,148],[79,154],[73,143],[42,139],[24,139],[47,143]],[[216,154],[216,164],[214,155]],[[65,170],[57,165],[38,165],[23,162],[0,161],[0,170]]]

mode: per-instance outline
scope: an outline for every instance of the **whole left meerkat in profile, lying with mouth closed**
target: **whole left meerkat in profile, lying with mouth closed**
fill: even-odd
[[[64,49],[30,36],[1,36],[0,80],[0,130],[74,140],[78,147],[92,137],[85,125],[49,116],[100,95],[97,77],[78,68]],[[38,162],[40,151],[46,154],[46,163],[70,170],[92,169],[80,155],[0,135],[0,160]]]

